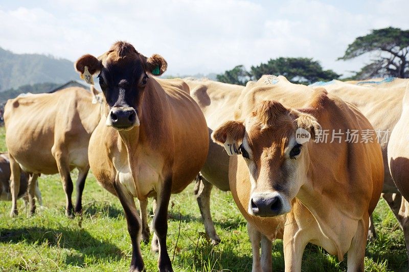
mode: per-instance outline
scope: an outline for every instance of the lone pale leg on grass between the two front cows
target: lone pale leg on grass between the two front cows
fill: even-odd
[[[212,188],[213,184],[201,177],[200,174],[197,175],[196,185],[194,188],[197,204],[199,205],[199,210],[201,218],[203,219],[203,224],[205,225],[206,233],[212,240],[212,244],[216,245],[220,242],[220,238],[216,233],[212,215],[210,213],[210,193],[212,192]]]

